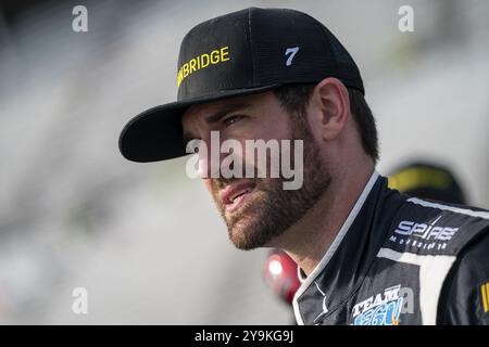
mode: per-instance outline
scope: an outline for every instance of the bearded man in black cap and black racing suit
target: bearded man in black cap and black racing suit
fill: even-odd
[[[489,323],[489,213],[388,189],[360,72],[324,25],[255,8],[203,22],[183,40],[176,78],[178,101],[131,119],[121,152],[155,162],[198,150],[230,241],[298,264],[299,324]],[[260,176],[252,151],[221,151],[250,140],[293,140],[300,188],[286,189],[285,170]],[[224,175],[229,163],[254,175]]]

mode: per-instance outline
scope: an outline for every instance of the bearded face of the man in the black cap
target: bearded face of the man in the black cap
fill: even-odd
[[[300,220],[329,185],[329,172],[306,119],[284,111],[273,92],[197,105],[186,112],[181,123],[186,139],[200,139],[206,144],[206,155],[199,152],[200,166],[208,177],[203,180],[226,222],[230,241],[240,249],[273,246],[273,240]],[[242,149],[247,140],[291,140],[293,153],[293,140],[303,140],[302,188],[284,190],[281,175],[258,178],[256,156],[250,162],[246,151],[242,168],[253,167],[253,178],[211,178],[206,160],[213,151],[211,131],[218,131],[221,143],[236,140]],[[267,165],[272,165],[269,152],[267,157]]]

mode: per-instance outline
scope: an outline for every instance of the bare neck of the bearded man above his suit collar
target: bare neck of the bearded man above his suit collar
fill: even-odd
[[[289,254],[306,275],[330,247],[373,171],[374,165],[368,162],[336,172],[317,204],[284,233],[281,240],[277,240],[277,245]]]

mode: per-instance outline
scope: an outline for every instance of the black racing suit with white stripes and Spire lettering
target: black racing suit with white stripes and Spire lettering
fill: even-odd
[[[300,277],[299,324],[489,324],[489,211],[400,194],[374,172]]]

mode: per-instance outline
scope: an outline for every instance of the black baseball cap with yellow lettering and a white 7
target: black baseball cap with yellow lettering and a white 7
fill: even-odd
[[[250,8],[205,21],[181,41],[177,101],[129,120],[120,137],[121,153],[140,163],[186,155],[180,118],[188,107],[326,77],[365,92],[344,47],[305,13]]]

